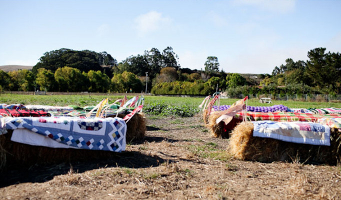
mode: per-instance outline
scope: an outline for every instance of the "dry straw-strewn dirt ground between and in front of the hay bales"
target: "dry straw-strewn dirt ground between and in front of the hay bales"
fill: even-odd
[[[341,199],[341,166],[231,158],[199,116],[147,116],[146,136],[105,160],[0,173],[1,199]]]

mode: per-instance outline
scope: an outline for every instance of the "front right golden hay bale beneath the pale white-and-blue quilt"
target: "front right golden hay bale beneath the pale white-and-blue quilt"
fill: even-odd
[[[260,162],[294,161],[337,164],[341,160],[341,132],[331,128],[330,146],[253,137],[252,122],[242,122],[231,132],[227,151],[237,159]]]

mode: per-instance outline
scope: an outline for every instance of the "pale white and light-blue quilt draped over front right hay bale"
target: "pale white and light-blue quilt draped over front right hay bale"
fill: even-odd
[[[287,142],[330,145],[330,128],[314,122],[252,121],[253,136]]]

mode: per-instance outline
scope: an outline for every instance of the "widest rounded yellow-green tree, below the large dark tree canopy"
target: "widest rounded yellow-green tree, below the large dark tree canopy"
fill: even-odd
[[[86,73],[68,66],[58,68],[54,72],[54,79],[58,83],[59,91],[85,91],[89,82]]]

